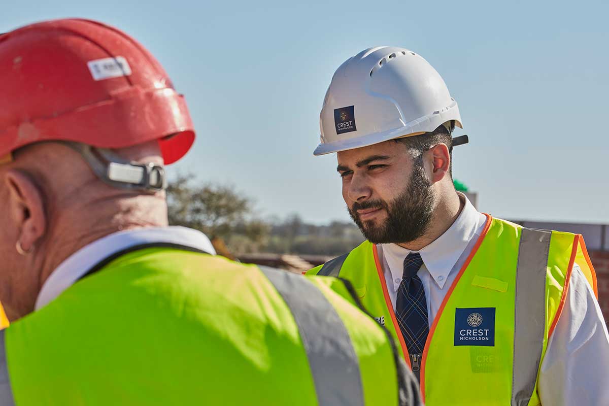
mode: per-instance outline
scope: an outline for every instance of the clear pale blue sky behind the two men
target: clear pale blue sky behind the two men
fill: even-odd
[[[7,0],[2,0],[7,2]],[[0,32],[82,16],[138,38],[186,95],[172,172],[231,183],[261,215],[347,220],[336,156],[312,156],[334,70],[370,46],[423,55],[470,144],[453,173],[509,219],[609,223],[609,5],[602,1],[11,2]]]

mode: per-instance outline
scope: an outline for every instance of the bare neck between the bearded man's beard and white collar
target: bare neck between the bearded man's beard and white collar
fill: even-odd
[[[410,251],[422,250],[446,233],[446,230],[452,226],[452,223],[457,220],[457,217],[463,211],[463,207],[465,207],[465,200],[462,200],[456,192],[453,192],[438,202],[429,229],[423,236],[411,242],[398,243],[398,245]]]

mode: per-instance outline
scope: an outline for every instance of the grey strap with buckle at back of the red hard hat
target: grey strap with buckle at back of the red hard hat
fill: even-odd
[[[167,187],[165,169],[154,163],[126,161],[111,149],[91,147],[80,142],[63,141],[80,153],[100,180],[119,189],[163,191]]]

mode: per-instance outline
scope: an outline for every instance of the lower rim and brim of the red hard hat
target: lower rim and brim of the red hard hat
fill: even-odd
[[[194,142],[186,102],[173,89],[126,94],[56,117],[36,119],[0,132],[0,156],[40,141],[74,141],[98,148],[125,148],[158,139],[164,163],[178,161]]]

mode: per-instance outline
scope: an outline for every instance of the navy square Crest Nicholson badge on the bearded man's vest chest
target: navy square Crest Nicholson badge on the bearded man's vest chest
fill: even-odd
[[[494,347],[495,307],[457,307],[454,345]]]

